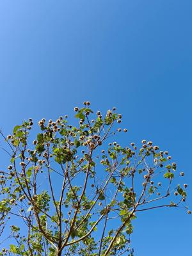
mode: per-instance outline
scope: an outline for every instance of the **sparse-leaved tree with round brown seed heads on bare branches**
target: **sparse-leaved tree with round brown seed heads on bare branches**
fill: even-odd
[[[93,120],[90,102],[74,111],[79,124],[43,118],[35,140],[31,119],[1,132],[10,165],[1,171],[0,232],[10,244],[0,255],[133,255],[137,212],[188,209],[188,185],[174,185],[177,164],[167,151],[145,140],[141,148],[106,143],[122,131],[115,108]]]

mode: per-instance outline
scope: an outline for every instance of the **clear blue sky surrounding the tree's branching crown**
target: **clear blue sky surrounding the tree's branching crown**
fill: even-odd
[[[124,116],[127,143],[156,141],[190,184],[191,0],[0,2],[0,127],[56,118],[84,100]],[[7,163],[1,157],[0,168]],[[186,211],[140,214],[135,256],[191,252]]]

